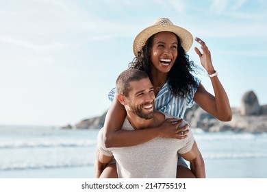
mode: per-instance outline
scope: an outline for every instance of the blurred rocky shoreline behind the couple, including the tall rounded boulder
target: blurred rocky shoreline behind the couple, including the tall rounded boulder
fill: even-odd
[[[201,128],[207,132],[234,131],[234,132],[267,132],[267,105],[260,106],[253,91],[246,92],[241,100],[240,108],[232,108],[233,118],[229,122],[219,121],[202,108],[194,104],[186,110],[184,119],[192,128]],[[101,117],[84,119],[74,127],[65,128],[97,129],[102,128],[105,121],[105,112]]]

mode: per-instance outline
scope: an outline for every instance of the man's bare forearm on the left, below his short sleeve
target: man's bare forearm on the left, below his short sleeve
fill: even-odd
[[[101,173],[107,166],[107,163],[110,163],[113,156],[105,156],[102,154],[99,149],[97,149],[96,159],[94,162],[94,178],[99,178]]]

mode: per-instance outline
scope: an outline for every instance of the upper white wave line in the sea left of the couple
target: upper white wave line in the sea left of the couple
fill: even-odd
[[[0,149],[35,148],[35,147],[91,147],[96,140],[86,141],[0,141]]]

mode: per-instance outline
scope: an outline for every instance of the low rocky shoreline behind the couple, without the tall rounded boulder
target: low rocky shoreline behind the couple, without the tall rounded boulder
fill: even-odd
[[[262,106],[266,109],[266,106]],[[265,110],[262,110],[265,111]],[[229,122],[219,121],[212,115],[199,108],[196,104],[187,110],[185,120],[190,123],[192,128],[201,128],[205,132],[267,132],[267,113],[262,112],[260,115],[240,115],[239,108],[232,108],[233,119]],[[64,129],[99,129],[103,127],[105,121],[104,112],[100,117],[84,119],[76,125],[66,125]]]

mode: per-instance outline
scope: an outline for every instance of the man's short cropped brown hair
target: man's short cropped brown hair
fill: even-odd
[[[131,91],[129,87],[130,82],[140,81],[146,78],[149,78],[149,76],[144,71],[132,68],[126,69],[118,75],[116,80],[116,93],[128,97],[129,91]]]

